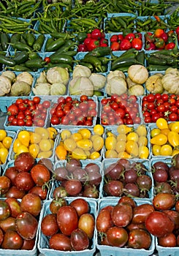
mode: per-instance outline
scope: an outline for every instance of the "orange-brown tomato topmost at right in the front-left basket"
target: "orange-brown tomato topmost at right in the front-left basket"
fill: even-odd
[[[21,211],[28,211],[34,217],[37,217],[42,209],[42,201],[36,194],[28,193],[24,195],[20,203]]]

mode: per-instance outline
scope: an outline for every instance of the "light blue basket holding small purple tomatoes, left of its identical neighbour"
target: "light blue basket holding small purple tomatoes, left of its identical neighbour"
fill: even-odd
[[[81,167],[84,169],[86,165],[90,164],[91,161],[89,160],[86,160],[86,161],[83,161],[81,160]],[[100,168],[100,173],[102,175],[102,178],[103,178],[103,170],[102,170],[102,162],[99,162],[99,161],[93,161],[94,164],[98,165],[99,168]],[[56,168],[58,167],[65,167],[66,166],[66,160],[64,161],[58,161],[55,163],[54,165],[54,170],[56,170]],[[56,189],[56,187],[59,187],[59,186],[63,186],[61,185],[61,182],[60,181],[56,181],[54,180],[53,183],[52,183],[52,187],[50,189],[50,194],[49,194],[49,200],[53,200],[53,192],[54,192],[54,189]],[[99,184],[99,186],[97,186],[97,189],[99,191],[99,197],[98,198],[93,198],[93,197],[83,197],[85,200],[88,201],[88,199],[90,200],[99,200],[99,198],[101,198],[101,195],[102,195],[102,181],[101,183]]]

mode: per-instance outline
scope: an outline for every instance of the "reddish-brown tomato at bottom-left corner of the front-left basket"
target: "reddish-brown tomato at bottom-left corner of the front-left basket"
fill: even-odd
[[[23,246],[23,238],[18,232],[13,230],[7,230],[4,233],[4,239],[1,244],[2,249],[20,249]]]

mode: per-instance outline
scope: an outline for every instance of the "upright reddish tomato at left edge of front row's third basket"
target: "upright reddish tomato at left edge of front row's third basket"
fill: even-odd
[[[107,209],[102,209],[96,218],[96,230],[99,233],[106,233],[110,227],[113,227],[113,220],[111,218],[111,212]]]

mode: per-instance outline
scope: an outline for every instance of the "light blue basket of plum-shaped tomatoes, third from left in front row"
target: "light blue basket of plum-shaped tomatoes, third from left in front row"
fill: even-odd
[[[99,200],[99,207],[97,211],[97,216],[99,214],[99,211],[104,208],[105,206],[115,206],[118,203],[118,200],[120,198],[115,198],[111,200],[106,200],[104,198]],[[134,200],[137,203],[137,206],[142,205],[143,203],[149,203],[149,201],[146,200]],[[149,249],[132,249],[132,248],[124,248],[124,247],[115,247],[115,246],[107,246],[107,245],[101,245],[99,244],[99,238],[97,236],[97,230],[96,230],[96,248],[99,249],[99,252],[102,256],[118,256],[118,255],[123,255],[123,256],[131,256],[131,255],[139,255],[139,256],[148,256],[152,255],[155,249],[155,238],[153,235],[151,235],[152,241],[151,241],[151,246]]]

